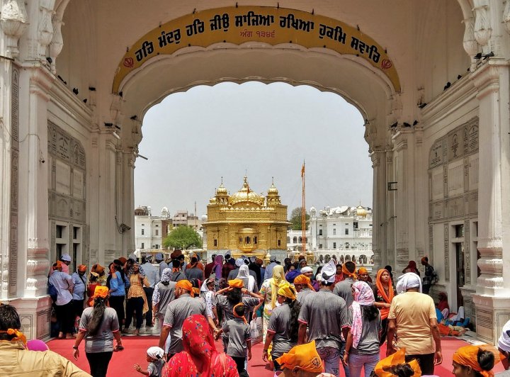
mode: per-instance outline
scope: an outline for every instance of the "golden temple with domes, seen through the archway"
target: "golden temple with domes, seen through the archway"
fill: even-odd
[[[262,259],[267,252],[286,252],[288,225],[287,206],[281,203],[274,181],[263,196],[251,190],[246,176],[242,188],[232,195],[222,180],[210,198],[208,220],[203,224],[208,250]]]

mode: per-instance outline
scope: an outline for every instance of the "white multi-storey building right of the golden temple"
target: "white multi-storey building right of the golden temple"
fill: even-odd
[[[357,264],[373,263],[370,208],[326,207],[317,214],[312,207],[309,232],[309,247],[321,262],[333,258],[339,263],[353,259]]]

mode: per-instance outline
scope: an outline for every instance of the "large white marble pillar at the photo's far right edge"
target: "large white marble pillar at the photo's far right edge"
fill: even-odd
[[[480,101],[477,334],[495,343],[510,313],[509,63],[491,59],[472,74]],[[505,215],[503,215],[505,214]]]

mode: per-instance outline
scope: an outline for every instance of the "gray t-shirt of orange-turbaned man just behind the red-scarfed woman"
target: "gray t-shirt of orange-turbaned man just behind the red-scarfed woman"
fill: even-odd
[[[166,307],[163,326],[170,327],[170,354],[176,354],[183,350],[182,325],[184,320],[193,314],[201,314],[204,317],[207,317],[207,314],[205,313],[204,300],[196,300],[188,293],[185,293],[178,299],[173,300]]]

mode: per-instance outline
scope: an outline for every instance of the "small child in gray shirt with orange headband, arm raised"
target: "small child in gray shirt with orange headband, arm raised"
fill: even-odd
[[[243,303],[234,306],[234,319],[223,322],[220,330],[228,334],[227,355],[231,356],[237,364],[239,376],[247,376],[244,370],[244,361],[246,359],[246,349],[248,350],[248,360],[251,360],[251,339],[250,328],[246,322],[244,313],[246,307]]]

